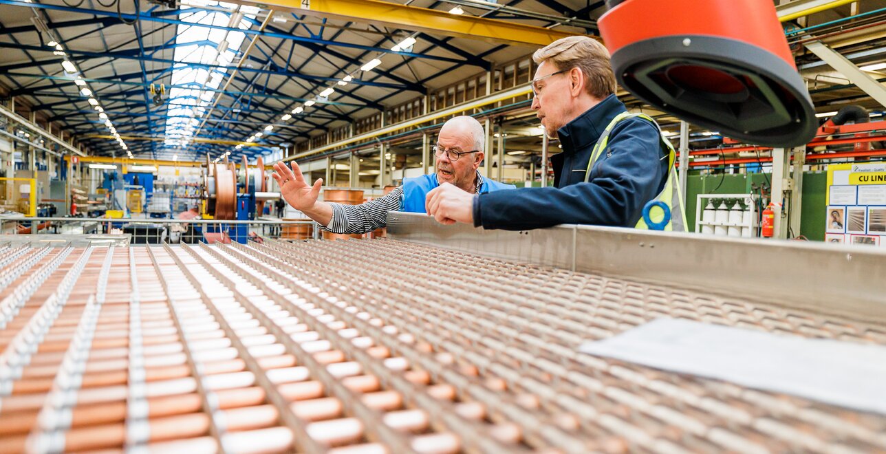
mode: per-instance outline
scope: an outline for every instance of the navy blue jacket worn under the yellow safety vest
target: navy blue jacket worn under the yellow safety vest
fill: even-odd
[[[667,180],[667,153],[652,123],[641,118],[619,121],[584,183],[597,139],[622,112],[625,105],[610,95],[558,129],[563,153],[551,157],[556,187],[479,194],[474,198],[474,225],[511,231],[560,223],[636,225],[643,206]]]

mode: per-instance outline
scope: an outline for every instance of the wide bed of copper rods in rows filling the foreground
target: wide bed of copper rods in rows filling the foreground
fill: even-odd
[[[886,329],[395,239],[0,246],[0,452],[871,452],[886,418],[579,354]]]

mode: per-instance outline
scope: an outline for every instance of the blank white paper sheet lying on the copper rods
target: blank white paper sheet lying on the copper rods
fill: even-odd
[[[659,318],[580,351],[886,414],[886,347]]]

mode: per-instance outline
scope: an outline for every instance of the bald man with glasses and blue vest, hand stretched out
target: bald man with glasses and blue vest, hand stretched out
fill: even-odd
[[[483,161],[485,143],[483,125],[473,117],[463,115],[450,119],[440,128],[434,145],[432,175],[405,178],[403,185],[375,200],[360,205],[341,205],[317,200],[323,179],[308,185],[299,165],[291,168],[283,162],[274,164],[274,179],[280,184],[280,193],[292,207],[298,209],[334,233],[366,233],[387,223],[388,211],[424,213],[425,196],[440,184],[450,184],[466,194],[481,194],[513,189],[512,184],[501,184],[483,178],[478,167]]]

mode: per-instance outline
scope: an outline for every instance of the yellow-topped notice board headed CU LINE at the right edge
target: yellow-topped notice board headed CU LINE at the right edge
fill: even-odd
[[[828,166],[825,240],[886,247],[886,162]]]

